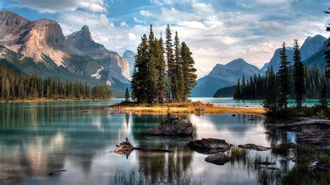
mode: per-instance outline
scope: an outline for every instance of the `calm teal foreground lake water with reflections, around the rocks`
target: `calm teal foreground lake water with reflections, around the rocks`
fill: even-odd
[[[281,120],[228,114],[182,115],[194,124],[192,138],[143,136],[143,131],[159,124],[163,115],[113,115],[102,110],[110,104],[113,102],[0,104],[0,184],[123,184],[129,179],[146,184],[175,180],[190,184],[256,184],[256,174],[243,166],[206,163],[207,155],[191,152],[186,143],[221,138],[235,145],[270,146],[295,140],[294,133],[274,129]],[[83,113],[86,108],[91,112]],[[264,131],[274,134],[269,136]],[[136,147],[174,152],[133,151],[129,156],[111,152],[125,137]],[[290,168],[289,163],[278,166]],[[49,175],[54,170],[67,171]]]

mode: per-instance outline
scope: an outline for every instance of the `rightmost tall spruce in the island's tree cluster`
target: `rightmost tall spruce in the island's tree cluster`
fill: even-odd
[[[196,86],[196,68],[194,67],[195,61],[191,56],[191,51],[185,42],[181,44],[181,61],[182,61],[182,73],[183,73],[183,101],[187,101],[191,89]]]

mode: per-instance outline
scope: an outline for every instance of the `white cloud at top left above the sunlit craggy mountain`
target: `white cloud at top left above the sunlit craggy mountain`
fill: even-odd
[[[12,0],[13,6],[38,10],[40,13],[74,11],[79,8],[93,12],[107,10],[104,0]]]

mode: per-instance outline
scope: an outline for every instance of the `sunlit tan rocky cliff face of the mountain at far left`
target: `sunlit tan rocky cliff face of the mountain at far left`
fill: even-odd
[[[58,66],[67,65],[64,58],[82,54],[65,40],[61,26],[54,20],[29,22],[7,10],[0,12],[0,45],[34,61],[43,61],[48,56]]]

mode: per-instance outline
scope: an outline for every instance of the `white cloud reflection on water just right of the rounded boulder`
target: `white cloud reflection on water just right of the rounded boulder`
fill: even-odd
[[[253,121],[247,119],[253,118]],[[190,115],[190,120],[196,127],[196,138],[219,138],[226,142],[240,145],[253,143],[256,145],[269,146],[263,134],[262,123],[265,117],[261,115],[237,115],[232,117],[229,114],[219,115]]]

